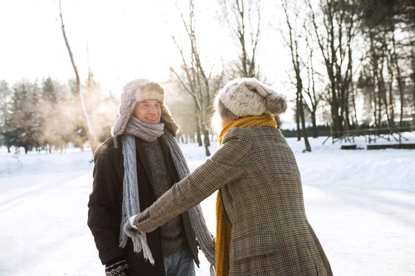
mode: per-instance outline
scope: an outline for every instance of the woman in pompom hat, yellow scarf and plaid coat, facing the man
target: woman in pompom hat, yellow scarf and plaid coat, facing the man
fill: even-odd
[[[154,231],[219,190],[217,275],[332,275],[306,218],[293,152],[273,115],[282,95],[255,79],[228,82],[215,98],[221,147],[127,228]]]

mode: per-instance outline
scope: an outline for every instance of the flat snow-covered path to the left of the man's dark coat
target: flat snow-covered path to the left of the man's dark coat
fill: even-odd
[[[86,227],[90,170],[6,179],[0,196],[0,218],[7,222],[1,228],[0,275],[102,274]],[[4,198],[4,184],[10,200]]]

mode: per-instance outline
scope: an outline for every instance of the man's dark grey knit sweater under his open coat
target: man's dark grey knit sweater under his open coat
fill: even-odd
[[[143,141],[142,145],[147,154],[151,167],[151,178],[154,183],[154,194],[157,198],[167,192],[172,187],[172,177],[167,173],[167,166],[160,143]],[[181,252],[187,247],[183,225],[180,217],[175,217],[167,221],[160,227],[161,243],[163,255],[165,257]]]

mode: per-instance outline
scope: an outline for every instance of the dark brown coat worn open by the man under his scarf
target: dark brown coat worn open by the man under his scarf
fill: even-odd
[[[163,142],[163,139],[158,140],[167,160],[168,173],[172,176],[175,183],[178,181],[178,174],[174,167],[172,156],[169,153],[169,148]],[[136,138],[137,177],[140,210],[145,210],[145,208],[148,208],[156,201],[156,196],[154,195],[154,186],[151,183],[151,167],[147,162],[148,158],[144,149],[142,149],[141,141],[140,138]],[[110,138],[97,149],[94,156],[93,191],[89,196],[88,226],[94,236],[99,257],[102,264],[106,264],[114,259],[126,259],[131,270],[129,275],[165,275],[160,231],[158,228],[153,232],[147,233],[147,242],[154,257],[155,266],[151,266],[148,261],[145,261],[142,252],[133,252],[131,239],[129,239],[125,248],[120,248],[119,246],[122,183],[124,179],[121,137],[118,138],[118,145],[119,148],[115,149],[113,139]],[[199,265],[196,239],[190,225],[189,215],[185,212],[181,217],[187,243],[193,252],[196,264]]]

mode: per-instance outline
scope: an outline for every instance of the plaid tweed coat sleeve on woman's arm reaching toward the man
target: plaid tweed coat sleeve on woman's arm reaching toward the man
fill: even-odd
[[[223,145],[182,181],[173,185],[163,196],[133,220],[136,229],[154,231],[166,221],[189,210],[223,185],[243,177],[250,169],[252,142],[243,129],[233,128],[223,139]]]

